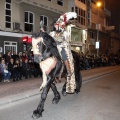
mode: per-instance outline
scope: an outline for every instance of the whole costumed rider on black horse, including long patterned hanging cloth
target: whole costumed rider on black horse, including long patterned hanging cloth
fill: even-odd
[[[54,23],[54,31],[50,32],[50,35],[57,43],[58,51],[61,54],[61,58],[63,59],[67,69],[66,93],[74,93],[76,88],[73,55],[71,52],[71,45],[69,43],[69,32],[67,31],[71,24],[70,19],[72,18],[77,18],[77,14],[75,12],[64,13]]]

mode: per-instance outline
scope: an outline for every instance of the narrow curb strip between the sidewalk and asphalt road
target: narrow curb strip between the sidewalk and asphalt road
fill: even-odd
[[[85,83],[87,81],[90,81],[92,79],[97,79],[99,77],[102,77],[102,76],[105,76],[105,75],[108,75],[108,74],[112,74],[114,72],[117,72],[117,71],[120,71],[120,69],[117,69],[117,70],[114,70],[114,71],[111,71],[111,72],[107,72],[107,73],[103,73],[103,74],[100,74],[100,75],[97,75],[97,76],[94,76],[94,77],[88,77],[86,79],[83,79],[82,82]],[[38,93],[37,93],[38,92]],[[7,100],[2,100],[0,101],[0,107],[3,107],[4,105],[9,105],[11,103],[14,103],[14,102],[19,102],[21,100],[24,100],[24,99],[28,99],[30,97],[34,97],[34,96],[37,96],[37,95],[40,95],[40,92],[38,91],[38,89],[35,90],[34,93],[32,94],[21,94],[21,95],[16,95],[14,98],[11,98],[11,99],[7,99]]]

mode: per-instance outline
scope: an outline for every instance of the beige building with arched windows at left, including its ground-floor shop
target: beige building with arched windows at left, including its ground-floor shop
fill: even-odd
[[[40,21],[51,31],[54,19],[68,11],[68,0],[1,0],[0,52],[28,50],[22,38],[38,32]]]

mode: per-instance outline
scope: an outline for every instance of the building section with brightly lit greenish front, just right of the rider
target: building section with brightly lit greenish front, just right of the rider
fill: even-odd
[[[77,19],[70,28],[71,46],[78,53],[86,52],[87,40],[87,1],[86,0],[69,0],[69,11],[77,13]]]

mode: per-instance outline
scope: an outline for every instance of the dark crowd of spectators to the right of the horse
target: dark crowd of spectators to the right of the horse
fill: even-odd
[[[91,68],[120,65],[120,54],[105,54],[96,56],[94,54],[80,54],[80,69],[88,70]]]

